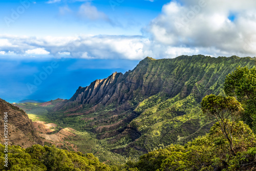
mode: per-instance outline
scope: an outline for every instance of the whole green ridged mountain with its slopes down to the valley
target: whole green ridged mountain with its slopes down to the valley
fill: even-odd
[[[48,120],[90,133],[108,151],[139,156],[208,132],[212,122],[201,116],[200,102],[208,94],[223,95],[225,76],[238,66],[251,68],[254,59],[147,57],[133,71],[96,80],[70,100],[40,108]]]

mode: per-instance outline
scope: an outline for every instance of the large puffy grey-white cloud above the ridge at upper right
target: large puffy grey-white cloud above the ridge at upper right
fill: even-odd
[[[238,0],[172,1],[163,6],[162,13],[146,31],[165,47],[185,47],[190,49],[188,52],[200,50],[199,53],[208,54],[253,55],[256,52],[255,5],[255,1]]]

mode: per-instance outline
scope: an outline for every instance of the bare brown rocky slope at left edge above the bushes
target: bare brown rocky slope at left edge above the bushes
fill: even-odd
[[[8,115],[8,145],[20,145],[30,147],[33,144],[43,145],[38,132],[28,115],[17,106],[14,106],[3,99],[0,99],[0,142],[4,141],[4,118],[5,112]]]

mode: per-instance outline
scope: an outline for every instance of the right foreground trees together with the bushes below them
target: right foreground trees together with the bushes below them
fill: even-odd
[[[183,146],[172,144],[150,152],[116,170],[256,170],[256,136],[241,121],[255,118],[255,74],[255,68],[238,67],[224,84],[226,95],[233,97],[211,94],[203,98],[203,114],[217,120],[209,134]],[[248,123],[255,128],[253,121]]]

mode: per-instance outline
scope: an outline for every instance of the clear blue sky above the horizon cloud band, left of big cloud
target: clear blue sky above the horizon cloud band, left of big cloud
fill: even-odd
[[[10,27],[2,23],[6,34],[27,36],[75,36],[79,34],[141,35],[141,28],[156,17],[168,1],[28,1],[24,13]],[[47,3],[48,2],[48,3]],[[120,2],[120,3],[118,3]],[[12,11],[22,5],[19,1],[1,1],[1,16],[11,18]],[[104,16],[79,14],[81,6],[88,6]],[[5,7],[5,8],[3,8]],[[84,16],[83,16],[84,15]],[[95,16],[93,16],[95,15]],[[19,28],[19,29],[17,29]]]

